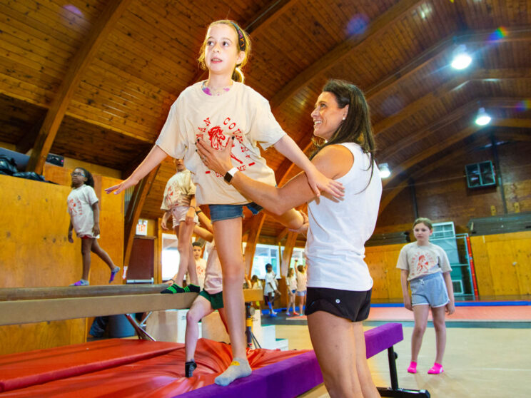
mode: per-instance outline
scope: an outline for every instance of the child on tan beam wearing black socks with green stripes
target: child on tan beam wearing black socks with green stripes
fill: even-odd
[[[193,185],[190,171],[186,170],[183,159],[175,159],[173,163],[176,173],[166,183],[161,210],[161,227],[168,230],[166,223],[173,219],[173,231],[177,236],[177,250],[179,252],[179,267],[176,275],[168,280],[171,286],[161,293],[174,294],[183,292],[199,292],[196,261],[193,259],[191,238],[193,228],[198,223],[196,215],[196,186]],[[190,284],[182,287],[184,275],[188,270]]]

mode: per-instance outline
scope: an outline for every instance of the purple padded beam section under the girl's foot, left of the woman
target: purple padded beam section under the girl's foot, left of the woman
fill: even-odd
[[[298,374],[300,377],[295,377]],[[288,376],[290,375],[290,376]],[[238,379],[227,387],[210,384],[194,389],[180,398],[293,398],[323,382],[315,352],[291,357],[253,371],[251,376]]]

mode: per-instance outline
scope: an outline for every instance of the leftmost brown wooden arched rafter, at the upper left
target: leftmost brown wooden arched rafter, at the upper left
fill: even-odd
[[[59,126],[61,126],[66,109],[69,106],[72,96],[74,96],[74,91],[81,80],[81,76],[93,61],[94,56],[96,56],[97,51],[101,48],[109,32],[115,26],[116,21],[120,19],[123,11],[127,9],[130,3],[131,0],[108,1],[101,16],[96,19],[89,37],[86,39],[84,45],[81,46],[81,49],[76,52],[61,82],[61,86],[59,86],[59,91],[51,102],[50,108],[37,134],[26,170],[42,174],[44,163],[54,143]]]

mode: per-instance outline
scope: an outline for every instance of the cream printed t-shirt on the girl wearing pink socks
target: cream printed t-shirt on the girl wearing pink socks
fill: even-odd
[[[448,256],[442,248],[433,243],[419,246],[416,242],[408,243],[400,250],[396,267],[409,272],[408,280],[452,270]]]

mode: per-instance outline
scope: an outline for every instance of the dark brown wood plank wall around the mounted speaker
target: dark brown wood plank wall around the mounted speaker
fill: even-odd
[[[531,142],[510,143],[498,147],[507,213],[531,211]],[[467,233],[470,218],[489,217],[491,206],[503,214],[500,187],[467,188],[465,165],[492,160],[492,150],[474,150],[452,160],[415,181],[420,217],[434,222],[453,221],[456,233]],[[384,191],[385,195],[385,191]],[[375,233],[409,230],[415,219],[409,188],[405,188],[378,217]]]

